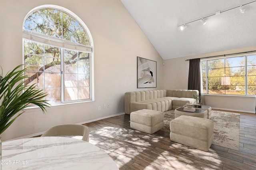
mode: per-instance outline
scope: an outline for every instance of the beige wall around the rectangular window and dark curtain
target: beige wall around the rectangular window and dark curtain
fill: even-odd
[[[164,60],[164,89],[188,89],[189,61],[186,61],[187,59],[254,50],[256,46]],[[255,113],[255,97],[204,95],[204,104],[214,109]]]

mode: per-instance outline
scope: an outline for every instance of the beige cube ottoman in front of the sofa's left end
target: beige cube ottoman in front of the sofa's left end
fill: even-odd
[[[164,113],[142,109],[130,114],[130,127],[153,134],[164,127]]]

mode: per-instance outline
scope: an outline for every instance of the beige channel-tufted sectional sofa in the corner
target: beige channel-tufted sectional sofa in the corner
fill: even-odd
[[[168,111],[194,103],[194,95],[198,90],[151,90],[134,91],[124,94],[124,112],[130,114],[133,111],[149,109],[155,111]]]

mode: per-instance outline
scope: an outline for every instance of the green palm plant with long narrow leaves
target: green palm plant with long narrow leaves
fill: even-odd
[[[20,69],[22,65],[18,65],[12,71],[9,71],[3,77],[1,67],[0,73],[0,134],[4,132],[30,104],[40,107],[43,113],[49,107],[47,96],[43,90],[36,89],[36,84],[32,86],[24,85],[26,75],[25,69]]]

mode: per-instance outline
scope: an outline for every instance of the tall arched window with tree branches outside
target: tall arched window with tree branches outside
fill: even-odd
[[[92,99],[92,40],[77,19],[63,10],[40,8],[24,21],[25,85],[36,83],[50,103]]]

